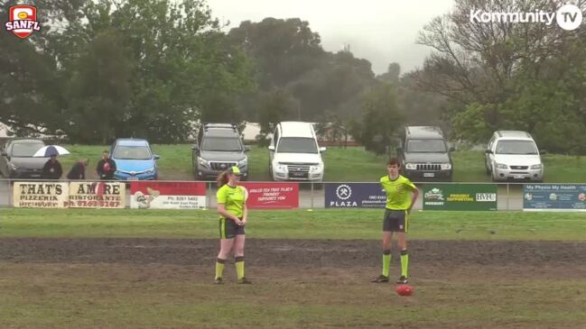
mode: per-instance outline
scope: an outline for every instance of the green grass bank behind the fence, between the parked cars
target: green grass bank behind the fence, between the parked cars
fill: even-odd
[[[94,171],[101,152],[107,146],[99,145],[64,145],[70,156],[60,157],[65,174],[75,160],[88,158],[90,160],[88,174],[95,178]],[[194,179],[191,166],[191,145],[153,145],[153,151],[161,156],[159,168],[162,179]],[[250,180],[270,180],[268,174],[268,151],[266,148],[253,146],[247,153]],[[377,156],[363,148],[330,147],[323,154],[325,162],[326,181],[377,181],[385,175],[385,156]],[[543,156],[545,166],[545,182],[554,183],[586,183],[586,156],[565,156],[546,154]],[[485,174],[484,153],[481,151],[453,152],[454,181],[461,182],[489,182]]]

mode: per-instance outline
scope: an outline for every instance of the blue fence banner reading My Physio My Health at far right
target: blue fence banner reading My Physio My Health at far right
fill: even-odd
[[[586,211],[586,184],[526,184],[523,210]]]

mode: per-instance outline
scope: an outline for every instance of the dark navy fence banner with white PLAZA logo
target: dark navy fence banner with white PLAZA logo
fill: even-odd
[[[379,183],[327,183],[326,208],[384,208],[386,194]]]

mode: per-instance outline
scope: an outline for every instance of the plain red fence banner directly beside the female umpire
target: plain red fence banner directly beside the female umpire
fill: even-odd
[[[250,209],[291,209],[299,207],[298,183],[241,183],[248,190]]]

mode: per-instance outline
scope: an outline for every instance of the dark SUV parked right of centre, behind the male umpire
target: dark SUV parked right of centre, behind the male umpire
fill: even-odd
[[[443,137],[442,129],[432,126],[409,126],[401,132],[396,149],[403,175],[414,181],[451,181],[453,148]]]

